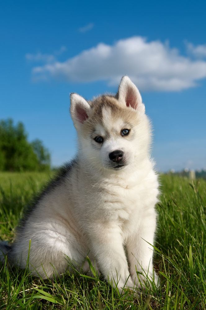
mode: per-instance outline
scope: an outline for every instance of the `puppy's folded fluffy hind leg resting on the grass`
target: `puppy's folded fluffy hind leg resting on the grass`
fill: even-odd
[[[21,237],[17,238],[9,253],[9,259],[13,263],[25,268],[29,253],[29,270],[43,278],[64,273],[68,269],[68,259],[75,268],[81,266],[87,250],[74,235],[70,232],[65,234],[62,227],[59,231],[52,228],[37,228],[36,231],[25,229]]]

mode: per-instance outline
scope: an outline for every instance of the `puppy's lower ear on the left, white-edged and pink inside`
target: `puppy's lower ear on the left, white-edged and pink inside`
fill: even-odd
[[[91,109],[89,103],[76,93],[70,94],[70,102],[70,113],[74,124],[82,124],[88,118]]]

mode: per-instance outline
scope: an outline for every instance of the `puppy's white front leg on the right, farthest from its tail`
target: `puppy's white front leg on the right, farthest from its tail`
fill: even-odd
[[[158,276],[154,272],[152,265],[153,247],[150,246],[150,244],[154,244],[155,227],[156,215],[155,211],[152,211],[143,219],[138,231],[127,241],[130,273],[135,284],[138,286],[141,286],[139,281],[141,281],[144,286],[147,277],[150,281],[152,281],[154,277],[155,284],[158,284]]]

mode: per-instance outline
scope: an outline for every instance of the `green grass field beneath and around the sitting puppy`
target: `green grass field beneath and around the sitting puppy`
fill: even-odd
[[[0,238],[12,241],[23,208],[49,175],[0,173]],[[0,264],[0,309],[205,309],[206,182],[161,176],[155,268],[160,289],[139,298],[120,295],[101,277],[66,272],[58,280],[32,277]]]

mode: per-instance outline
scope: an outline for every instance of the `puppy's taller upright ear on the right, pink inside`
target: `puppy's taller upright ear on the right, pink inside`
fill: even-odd
[[[119,84],[117,98],[121,104],[132,107],[140,112],[145,112],[140,92],[128,76],[124,76]]]

